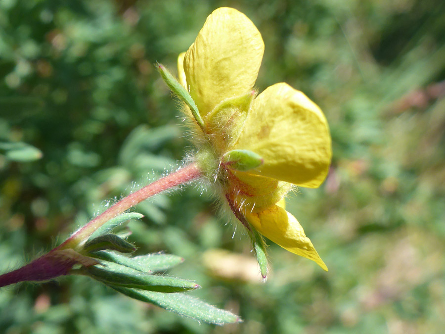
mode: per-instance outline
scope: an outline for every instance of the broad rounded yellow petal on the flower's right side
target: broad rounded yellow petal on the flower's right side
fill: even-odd
[[[324,181],[332,156],[323,112],[285,83],[268,87],[252,102],[234,149],[264,158],[252,173],[309,188]]]

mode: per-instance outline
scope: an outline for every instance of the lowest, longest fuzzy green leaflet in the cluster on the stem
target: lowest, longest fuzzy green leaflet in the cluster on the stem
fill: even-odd
[[[185,293],[161,293],[143,291],[139,289],[111,286],[131,298],[145,301],[176,312],[184,317],[189,317],[209,324],[223,325],[240,323],[242,319],[226,310],[207,304],[202,300],[191,297]]]

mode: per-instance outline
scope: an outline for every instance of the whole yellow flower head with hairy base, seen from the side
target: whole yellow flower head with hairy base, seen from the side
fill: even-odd
[[[327,270],[284,209],[283,197],[292,185],[316,188],[324,181],[332,155],[328,125],[315,103],[285,83],[255,97],[263,52],[252,21],[223,7],[209,15],[195,42],[179,55],[179,82],[202,118],[195,128],[198,162],[246,228]],[[241,168],[227,155],[233,150],[258,163]]]

